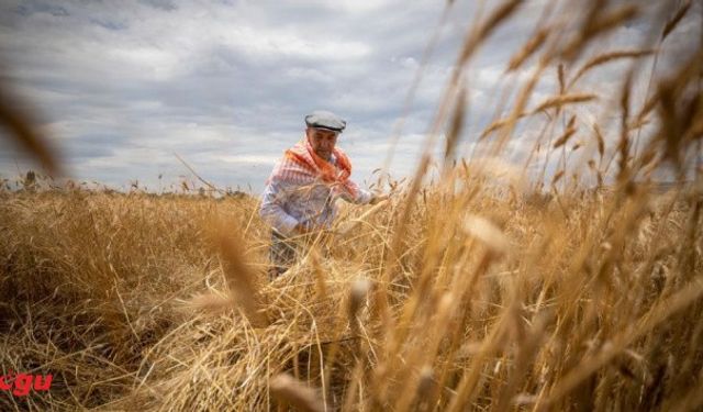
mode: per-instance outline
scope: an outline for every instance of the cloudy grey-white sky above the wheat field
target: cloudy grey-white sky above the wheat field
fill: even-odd
[[[494,3],[456,0],[443,20],[446,3],[437,0],[4,0],[0,78],[36,114],[78,181],[165,190],[194,180],[178,155],[217,187],[258,193],[303,136],[304,115],[322,109],[347,120],[338,145],[365,186],[383,166],[433,33],[388,169],[393,178],[416,167],[465,34]],[[495,114],[506,62],[546,3],[525,2],[471,62],[462,151]],[[569,1],[562,3],[568,13]],[[699,27],[700,20],[684,21],[668,53],[685,56]],[[636,47],[646,32],[634,22],[589,53]],[[612,90],[624,67],[587,76],[583,89]],[[529,65],[513,79],[528,74]],[[545,77],[535,99],[555,88],[556,76]],[[644,96],[645,81],[638,90]],[[589,115],[603,115],[602,102]],[[526,137],[511,142],[506,156],[529,149],[533,132],[521,133]],[[0,177],[38,169],[4,130],[0,147]]]

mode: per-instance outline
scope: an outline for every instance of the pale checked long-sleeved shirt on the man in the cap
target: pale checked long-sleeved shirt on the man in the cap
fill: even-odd
[[[346,190],[339,190],[338,186],[335,188],[321,178],[312,181],[286,178],[286,174],[277,172],[284,162],[286,158],[281,159],[274,168],[259,210],[260,216],[283,235],[290,235],[299,223],[308,227],[330,227],[336,215],[337,198],[358,204],[368,203],[372,198],[352,180],[346,180]],[[330,163],[337,167],[334,155]]]

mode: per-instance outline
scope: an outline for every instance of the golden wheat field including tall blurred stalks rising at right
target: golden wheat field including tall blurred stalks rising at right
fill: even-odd
[[[545,12],[506,64],[513,100],[456,162],[471,58],[524,4],[487,10],[416,175],[303,240],[270,283],[254,198],[47,188],[27,174],[0,192],[0,372],[54,383],[0,392],[0,409],[700,410],[701,44],[655,74],[696,18],[676,3]],[[635,19],[646,44],[594,52]],[[580,88],[614,63],[617,88]],[[546,78],[554,96],[533,98]],[[593,104],[616,120],[585,122]],[[526,122],[534,148],[503,160]],[[671,183],[654,181],[662,171]]]

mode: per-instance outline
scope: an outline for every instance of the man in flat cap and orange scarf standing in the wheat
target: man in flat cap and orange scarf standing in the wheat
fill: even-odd
[[[327,111],[305,116],[305,137],[286,151],[274,167],[261,197],[261,218],[272,226],[269,278],[284,272],[295,259],[292,237],[327,229],[335,216],[335,200],[365,204],[377,197],[349,179],[349,158],[336,147],[346,121]]]

